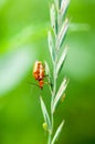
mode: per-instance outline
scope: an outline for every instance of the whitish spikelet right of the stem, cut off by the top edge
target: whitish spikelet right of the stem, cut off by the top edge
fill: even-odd
[[[68,8],[70,0],[62,0],[61,3],[61,16],[64,17],[67,8]]]

